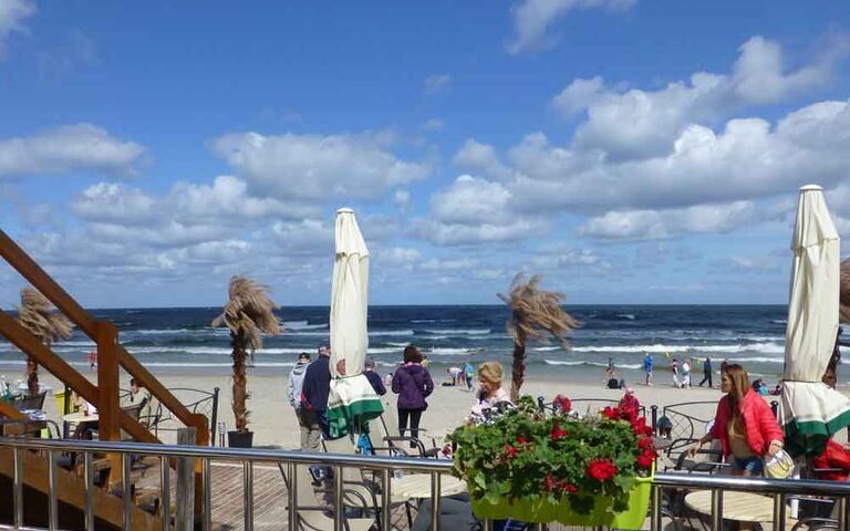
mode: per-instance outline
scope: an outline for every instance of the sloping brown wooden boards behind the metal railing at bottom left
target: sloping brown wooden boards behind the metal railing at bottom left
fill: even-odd
[[[28,525],[48,524],[48,459],[34,451],[22,451],[24,481],[24,519]],[[0,492],[2,499],[12,499],[14,458],[11,448],[0,449]],[[7,490],[8,489],[8,490]],[[84,529],[85,482],[83,478],[65,469],[56,469],[56,498],[60,502],[60,527]],[[106,491],[94,488],[94,513],[99,529],[123,529],[124,501]],[[11,522],[12,503],[4,503],[9,514],[0,519]],[[133,506],[133,530],[162,529],[159,518]]]

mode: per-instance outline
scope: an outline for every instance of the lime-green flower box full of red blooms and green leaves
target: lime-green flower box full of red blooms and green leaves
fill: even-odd
[[[636,404],[579,418],[559,395],[552,412],[522,397],[449,440],[478,518],[641,529],[656,457],[651,435]]]

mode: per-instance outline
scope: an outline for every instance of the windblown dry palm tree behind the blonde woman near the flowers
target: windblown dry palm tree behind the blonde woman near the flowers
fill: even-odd
[[[510,399],[515,404],[519,400],[519,388],[525,381],[526,343],[529,340],[548,343],[548,335],[551,335],[564,348],[569,348],[570,344],[564,335],[581,326],[581,323],[561,308],[563,294],[539,290],[539,275],[535,274],[526,282],[525,274],[519,273],[510,283],[510,293],[507,296],[499,293],[499,299],[505,301],[511,311],[507,329],[514,337]]]

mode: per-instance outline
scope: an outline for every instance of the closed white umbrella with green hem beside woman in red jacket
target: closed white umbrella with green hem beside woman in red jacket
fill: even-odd
[[[792,455],[816,456],[850,425],[850,399],[820,379],[838,332],[840,241],[819,186],[800,188],[791,250],[780,421]]]

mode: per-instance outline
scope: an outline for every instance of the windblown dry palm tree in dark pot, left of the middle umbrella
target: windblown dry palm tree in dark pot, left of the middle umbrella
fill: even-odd
[[[251,355],[262,348],[261,333],[278,335],[283,325],[274,315],[279,308],[268,298],[269,287],[245,277],[230,279],[229,300],[224,313],[212,321],[212,326],[225,324],[230,330],[230,345],[234,347],[234,418],[236,430],[248,431],[247,377],[245,371],[246,351]]]

